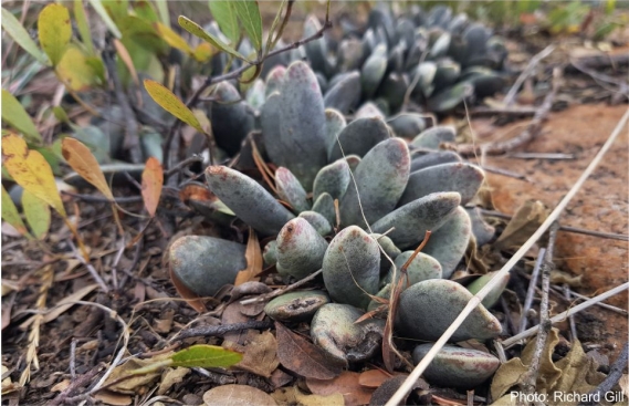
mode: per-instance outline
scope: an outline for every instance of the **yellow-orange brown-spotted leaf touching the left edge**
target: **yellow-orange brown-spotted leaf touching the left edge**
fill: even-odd
[[[4,167],[18,185],[45,201],[63,218],[67,217],[52,169],[40,153],[29,150],[22,138],[9,134],[2,138],[2,157]]]

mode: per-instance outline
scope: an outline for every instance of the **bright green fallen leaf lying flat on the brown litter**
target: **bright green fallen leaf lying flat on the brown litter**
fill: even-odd
[[[199,344],[175,353],[170,360],[170,366],[228,367],[238,364],[242,354],[216,345]]]

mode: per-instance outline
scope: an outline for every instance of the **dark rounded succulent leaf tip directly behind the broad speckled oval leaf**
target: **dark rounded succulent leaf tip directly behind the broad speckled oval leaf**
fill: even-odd
[[[338,134],[338,140],[335,140],[328,160],[333,162],[343,158],[343,153],[345,153],[345,156],[352,154],[364,156],[376,144],[390,137],[389,128],[381,118],[357,118]],[[343,153],[338,143],[343,146]]]

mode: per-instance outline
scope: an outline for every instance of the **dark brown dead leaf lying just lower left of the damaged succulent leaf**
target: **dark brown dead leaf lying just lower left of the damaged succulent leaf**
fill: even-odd
[[[331,360],[323,350],[293,333],[282,323],[275,322],[275,331],[277,358],[286,368],[315,379],[332,379],[343,371],[342,365]]]

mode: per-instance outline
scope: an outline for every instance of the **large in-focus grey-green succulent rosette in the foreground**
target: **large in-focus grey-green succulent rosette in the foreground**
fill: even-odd
[[[313,306],[304,314],[296,312],[295,317],[310,317],[316,311],[313,340],[332,356],[348,362],[370,356],[381,339],[384,321],[363,326],[354,322],[373,296],[388,296],[394,274],[399,278],[395,270],[431,230],[408,269],[410,287],[401,293],[396,325],[406,336],[436,340],[471,296],[448,279],[473,232],[461,204],[474,197],[483,170],[457,154],[437,149],[454,138],[451,127],[434,127],[408,142],[394,136],[380,117],[346,124],[340,112],[324,108],[317,77],[304,62],[270,75],[276,90],[260,108],[260,147],[277,165],[276,196],[227,166],[207,168],[208,188],[259,235],[276,236],[264,248],[264,260],[280,275],[303,279],[323,270],[329,299],[312,293]],[[214,272],[224,278],[244,268],[243,246],[230,242],[233,246],[229,251],[226,246],[223,254],[217,249],[220,240],[207,240],[207,247],[193,240],[190,250],[181,249],[187,241],[179,241],[170,250],[171,270],[193,292],[212,294],[220,288],[211,282],[217,279]],[[197,248],[205,251],[197,254]],[[207,250],[212,250],[212,259]],[[208,262],[196,254],[208,257]],[[201,287],[203,280],[211,288]],[[268,314],[290,320],[286,309],[306,306],[307,298],[300,292],[280,296],[268,304]],[[500,332],[497,320],[480,306],[453,339],[486,340]]]

